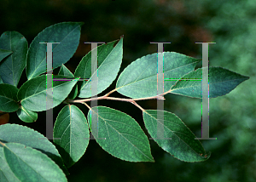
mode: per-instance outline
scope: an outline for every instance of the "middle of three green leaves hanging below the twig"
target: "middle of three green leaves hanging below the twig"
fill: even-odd
[[[103,150],[129,162],[154,162],[148,138],[132,117],[105,106],[91,108],[88,121],[91,114],[98,116],[98,137],[94,130],[92,134]]]

